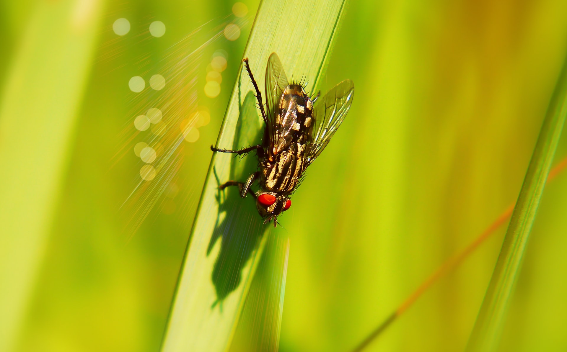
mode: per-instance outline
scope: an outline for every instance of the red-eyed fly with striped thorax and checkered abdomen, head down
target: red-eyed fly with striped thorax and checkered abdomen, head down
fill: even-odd
[[[280,58],[272,53],[266,66],[264,110],[248,58],[243,61],[265,122],[262,144],[242,150],[211,146],[211,150],[238,155],[256,151],[259,171],[252,173],[245,182],[228,181],[219,188],[238,186],[242,198],[251,194],[256,199],[258,212],[265,219],[264,224],[273,219],[276,227],[277,217],[291,206],[290,196],[301,183],[307,167],[325,149],[348,113],[354,83],[350,79],[343,80],[314,105],[319,95],[311,99],[302,84],[289,83]],[[257,192],[251,189],[255,181],[260,185]]]

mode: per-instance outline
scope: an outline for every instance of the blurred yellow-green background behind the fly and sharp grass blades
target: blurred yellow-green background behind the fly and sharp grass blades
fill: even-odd
[[[0,287],[17,294],[0,295],[15,307],[0,325],[11,324],[10,350],[159,349],[208,148],[259,5],[242,2],[243,17],[217,0],[0,2],[0,244],[22,251],[0,252],[0,273],[23,280]],[[567,3],[547,0],[348,3],[320,89],[350,78],[356,95],[280,219],[291,240],[280,351],[352,349],[515,201],[567,49],[566,14]],[[119,18],[130,23],[122,36]],[[238,38],[224,35],[235,20]],[[163,36],[150,32],[154,21]],[[219,55],[226,70],[210,97]],[[149,86],[155,74],[161,93]],[[141,93],[129,88],[134,76],[145,79]],[[134,146],[151,132],[134,118],[159,94],[179,98],[172,114],[198,105],[210,122],[175,149],[171,180],[141,181]],[[566,175],[545,190],[503,351],[567,349],[566,194]],[[368,350],[462,350],[503,231]],[[10,247],[11,236],[24,244]]]

